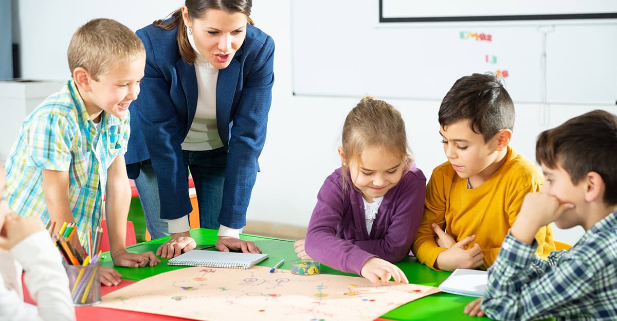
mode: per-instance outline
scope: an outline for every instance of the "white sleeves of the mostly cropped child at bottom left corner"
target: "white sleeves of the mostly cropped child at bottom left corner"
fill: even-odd
[[[23,265],[24,281],[38,309],[28,309],[14,291],[0,286],[0,320],[75,320],[62,257],[47,231],[38,231],[10,249]],[[8,292],[8,293],[7,293]]]

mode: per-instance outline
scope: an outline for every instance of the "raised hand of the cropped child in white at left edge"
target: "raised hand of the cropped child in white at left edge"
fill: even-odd
[[[15,244],[28,236],[45,230],[43,222],[34,217],[20,217],[10,212],[4,219],[4,226],[0,231],[0,249],[12,249]]]

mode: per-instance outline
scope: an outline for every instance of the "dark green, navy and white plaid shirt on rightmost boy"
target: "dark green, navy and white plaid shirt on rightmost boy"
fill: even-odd
[[[482,309],[491,319],[617,320],[617,212],[590,228],[569,251],[549,261],[537,243],[508,234],[489,269]]]

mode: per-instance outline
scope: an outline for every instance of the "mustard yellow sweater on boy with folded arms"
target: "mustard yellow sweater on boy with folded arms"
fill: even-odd
[[[525,194],[539,191],[544,183],[536,165],[510,146],[505,157],[507,160],[497,172],[471,190],[467,189],[467,180],[458,177],[450,162],[433,170],[426,186],[424,215],[412,247],[418,261],[435,269],[437,256],[446,250],[435,241],[431,223],[437,223],[456,241],[475,234],[474,243],[484,252],[484,264],[480,269],[486,270],[493,264]],[[555,251],[550,225],[540,228],[536,240],[539,243],[537,256],[546,259]]]

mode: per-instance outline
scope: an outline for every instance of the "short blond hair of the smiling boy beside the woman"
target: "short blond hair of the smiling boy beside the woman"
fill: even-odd
[[[128,27],[112,19],[94,19],[75,31],[68,45],[68,69],[73,74],[82,67],[98,81],[112,67],[145,54],[144,44]]]

